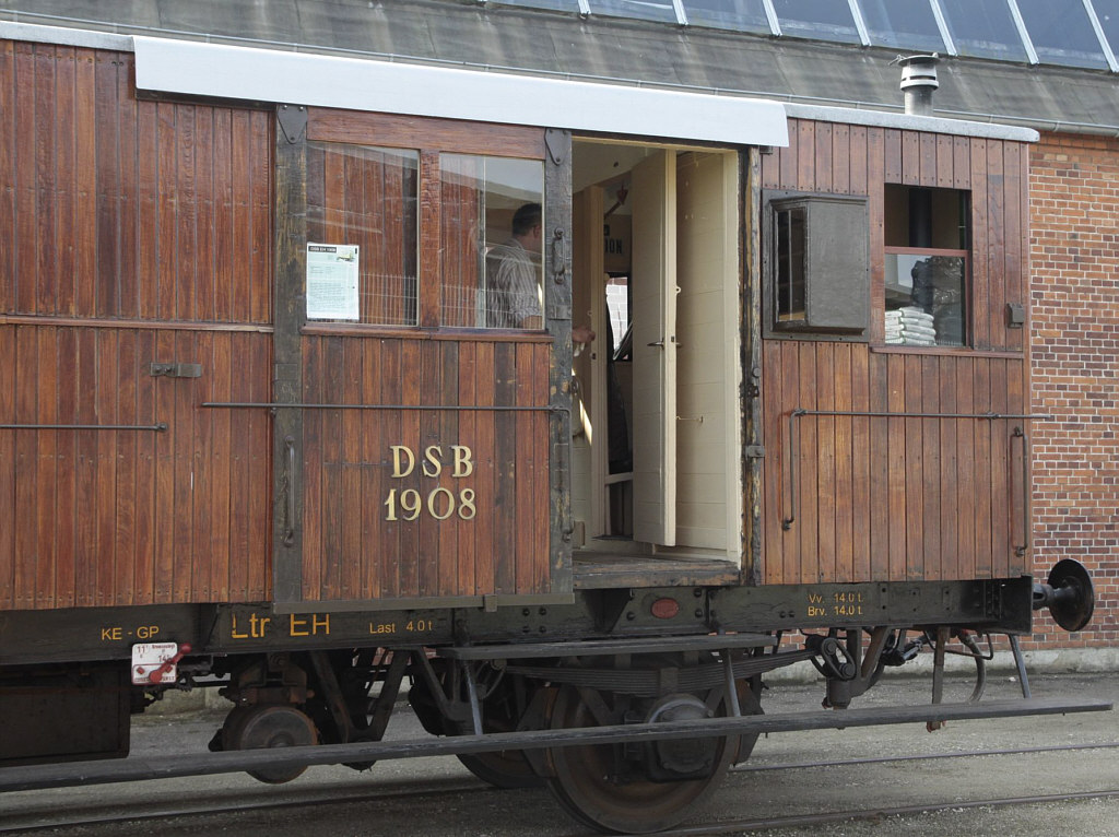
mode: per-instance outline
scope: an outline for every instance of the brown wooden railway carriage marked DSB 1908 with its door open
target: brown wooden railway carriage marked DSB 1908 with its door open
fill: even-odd
[[[768,670],[846,707],[1087,620],[1075,566],[1028,577],[1032,131],[0,35],[3,764],[206,685],[215,749],[368,756],[410,678],[479,775],[652,830]],[[493,328],[533,203],[543,327]],[[622,724],[693,741],[580,739]]]

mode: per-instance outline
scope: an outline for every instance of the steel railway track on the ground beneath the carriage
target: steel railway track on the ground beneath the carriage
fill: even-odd
[[[871,765],[887,764],[910,764],[916,762],[934,762],[940,760],[967,761],[979,758],[1008,758],[1034,754],[1074,753],[1076,751],[1099,751],[1117,750],[1119,742],[1113,743],[1088,743],[1088,744],[1063,744],[1051,746],[1010,747],[999,750],[977,750],[969,752],[943,752],[916,755],[886,755],[865,759],[841,759],[799,762],[778,762],[772,764],[747,763],[735,768],[732,773],[744,775],[750,773],[773,773],[819,770],[819,769],[853,769],[868,768]],[[426,780],[422,783],[407,781],[395,782],[392,786],[380,786],[377,788],[350,788],[339,790],[337,788],[322,789],[299,789],[292,788],[283,796],[267,794],[263,797],[245,799],[244,797],[211,799],[209,801],[175,802],[175,803],[147,803],[130,809],[126,814],[111,811],[109,806],[103,803],[97,808],[88,805],[84,809],[67,812],[51,808],[25,810],[16,818],[0,819],[0,835],[6,834],[35,834],[51,831],[54,834],[67,834],[69,829],[75,833],[85,834],[85,829],[109,829],[120,827],[125,824],[158,824],[177,818],[220,817],[223,815],[257,812],[274,812],[282,816],[284,810],[327,808],[336,806],[358,806],[358,805],[407,805],[411,800],[423,800],[426,810],[439,810],[440,800],[449,800],[461,794],[477,793],[486,789],[473,778],[444,777]],[[500,793],[500,791],[493,791]],[[991,797],[981,799],[952,799],[944,802],[921,802],[903,806],[867,806],[852,807],[837,810],[828,810],[814,814],[796,814],[787,816],[753,816],[732,817],[718,819],[698,825],[685,825],[668,831],[662,831],[667,837],[686,837],[692,835],[718,835],[718,834],[745,834],[763,830],[780,830],[790,828],[809,828],[812,826],[824,826],[837,822],[854,822],[858,820],[880,820],[888,817],[912,817],[921,814],[931,814],[948,810],[965,810],[976,808],[1007,808],[1026,805],[1057,803],[1070,801],[1084,801],[1093,799],[1117,799],[1119,788],[1096,791],[1080,791],[1065,793],[1047,793],[1016,797]],[[543,831],[542,831],[543,834]],[[549,833],[551,834],[551,833]],[[585,831],[572,831],[566,837],[583,837]]]

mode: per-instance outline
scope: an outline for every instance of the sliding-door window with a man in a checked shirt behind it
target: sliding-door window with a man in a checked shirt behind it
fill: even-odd
[[[444,326],[544,327],[544,163],[440,156]]]

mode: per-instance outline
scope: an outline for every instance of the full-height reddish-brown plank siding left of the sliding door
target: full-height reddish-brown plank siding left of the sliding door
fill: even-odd
[[[270,595],[271,117],[132,62],[0,41],[0,424],[167,424],[0,429],[0,609]]]

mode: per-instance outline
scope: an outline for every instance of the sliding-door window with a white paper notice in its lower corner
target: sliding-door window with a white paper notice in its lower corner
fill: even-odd
[[[308,143],[308,319],[416,325],[419,159],[408,150]],[[330,257],[350,273],[332,272]],[[355,274],[351,299],[345,284]]]

